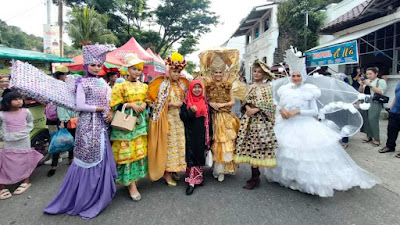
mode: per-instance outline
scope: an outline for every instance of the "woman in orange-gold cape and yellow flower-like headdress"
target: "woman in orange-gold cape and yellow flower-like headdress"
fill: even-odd
[[[149,177],[161,177],[169,186],[176,186],[171,173],[185,172],[185,128],[179,113],[189,81],[180,72],[186,62],[179,53],[165,60],[168,77],[160,76],[149,85],[149,99],[154,102],[149,127]]]

